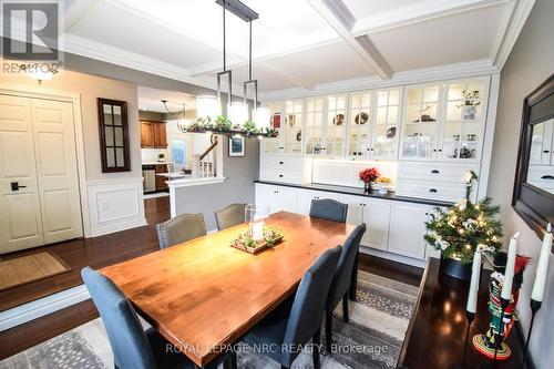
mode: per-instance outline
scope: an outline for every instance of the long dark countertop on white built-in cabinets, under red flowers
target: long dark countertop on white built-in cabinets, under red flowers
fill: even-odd
[[[432,205],[432,206],[447,206],[448,207],[448,206],[453,205],[453,203],[450,203],[450,202],[428,199],[428,198],[418,198],[418,197],[397,196],[393,193],[389,193],[387,195],[380,195],[377,192],[372,192],[370,194],[367,194],[363,192],[363,188],[357,188],[357,187],[334,186],[334,185],[324,185],[324,184],[317,184],[317,183],[298,185],[298,184],[291,184],[291,183],[259,181],[259,180],[256,180],[254,182],[260,183],[260,184],[276,185],[276,186],[336,192],[336,193],[345,194],[345,195],[357,195],[357,196],[363,196],[363,197],[391,199],[391,201],[397,201],[397,202],[407,202],[407,203],[424,204],[424,205]]]

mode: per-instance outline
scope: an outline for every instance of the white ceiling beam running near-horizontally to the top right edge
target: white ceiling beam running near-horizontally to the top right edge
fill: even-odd
[[[355,37],[371,34],[460,12],[516,0],[435,0],[384,11],[356,21]]]

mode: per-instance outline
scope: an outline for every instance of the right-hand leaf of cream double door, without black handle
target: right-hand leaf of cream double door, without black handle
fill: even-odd
[[[44,243],[81,237],[73,105],[33,99],[31,111]]]

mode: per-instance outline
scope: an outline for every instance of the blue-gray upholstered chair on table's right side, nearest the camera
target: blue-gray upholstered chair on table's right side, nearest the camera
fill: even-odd
[[[264,353],[278,361],[281,368],[290,368],[300,353],[298,347],[311,339],[314,368],[319,369],[321,320],[340,250],[340,246],[326,250],[304,275],[294,300],[274,309],[244,337],[244,341],[275,347]]]

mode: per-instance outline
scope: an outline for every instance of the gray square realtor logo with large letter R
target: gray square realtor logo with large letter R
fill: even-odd
[[[2,1],[2,57],[59,61],[60,4]]]

